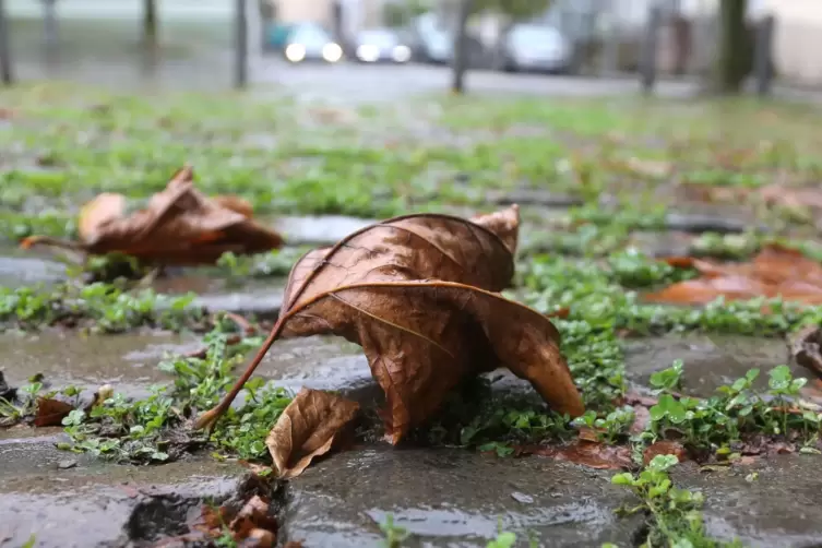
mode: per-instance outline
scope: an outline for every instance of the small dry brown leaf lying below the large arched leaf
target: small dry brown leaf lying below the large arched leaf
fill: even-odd
[[[265,439],[279,477],[299,476],[314,457],[327,453],[358,410],[359,404],[345,397],[302,389]]]

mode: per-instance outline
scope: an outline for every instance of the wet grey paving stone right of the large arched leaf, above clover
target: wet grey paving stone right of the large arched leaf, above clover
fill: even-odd
[[[624,342],[626,369],[630,380],[647,385],[652,373],[681,359],[683,390],[710,396],[723,385],[759,368],[759,386],[767,384],[767,371],[786,364],[797,377],[810,376],[807,369],[790,364],[787,347],[781,338],[755,338],[725,335],[669,335],[662,338]]]

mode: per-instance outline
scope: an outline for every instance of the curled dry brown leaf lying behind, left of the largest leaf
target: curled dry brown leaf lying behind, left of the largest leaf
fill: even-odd
[[[259,253],[279,248],[278,234],[251,219],[251,205],[237,196],[209,199],[178,170],[145,209],[128,212],[122,194],[104,193],[83,206],[80,242],[34,236],[21,246],[51,245],[87,254],[119,252],[147,264],[213,264],[225,252]]]

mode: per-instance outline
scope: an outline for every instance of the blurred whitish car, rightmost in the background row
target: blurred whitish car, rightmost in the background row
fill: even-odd
[[[503,39],[502,70],[564,73],[570,72],[572,65],[570,41],[550,25],[514,25]]]

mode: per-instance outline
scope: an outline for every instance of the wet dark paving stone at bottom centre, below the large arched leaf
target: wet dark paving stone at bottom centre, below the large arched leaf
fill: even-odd
[[[420,481],[420,477],[425,481]],[[626,493],[609,474],[547,458],[496,458],[452,450],[364,450],[334,455],[291,481],[286,539],[306,546],[379,546],[391,513],[407,546],[486,546],[501,521],[540,546],[630,546],[634,520],[613,510]],[[526,493],[533,503],[516,500]]]

